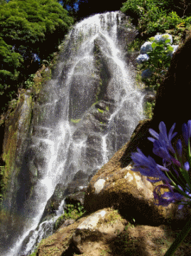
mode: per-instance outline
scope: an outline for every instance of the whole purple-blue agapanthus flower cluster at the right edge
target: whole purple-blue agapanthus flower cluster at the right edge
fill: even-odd
[[[149,129],[149,133],[153,138],[149,137],[153,143],[153,153],[163,159],[163,165],[158,165],[155,160],[150,156],[146,157],[142,151],[137,148],[138,153],[131,153],[131,158],[134,162],[133,170],[139,171],[142,175],[155,178],[147,178],[151,183],[156,183],[160,180],[163,181],[163,185],[158,185],[153,190],[153,195],[156,205],[168,206],[170,203],[178,203],[179,209],[185,204],[191,204],[191,182],[189,176],[189,170],[191,166],[191,153],[190,153],[190,137],[191,137],[191,121],[182,126],[182,134],[185,139],[186,145],[188,145],[188,160],[182,163],[182,142],[178,140],[176,150],[171,141],[177,135],[173,133],[175,129],[175,123],[167,133],[165,123],[160,122],[160,133],[155,132],[153,129]],[[179,172],[178,172],[179,170]],[[162,193],[162,189],[168,189],[168,192]]]

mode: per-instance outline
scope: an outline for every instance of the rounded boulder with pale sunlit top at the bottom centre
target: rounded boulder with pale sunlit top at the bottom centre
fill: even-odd
[[[111,225],[112,223],[112,225]],[[80,253],[100,252],[102,244],[114,239],[124,231],[126,220],[119,213],[102,210],[87,217],[75,230],[72,236]]]

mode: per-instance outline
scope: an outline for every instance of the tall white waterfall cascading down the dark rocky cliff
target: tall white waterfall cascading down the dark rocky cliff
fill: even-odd
[[[121,50],[122,24],[119,12],[96,14],[67,36],[53,78],[34,108],[23,163],[33,182],[28,193],[21,190],[25,198],[20,200],[18,194],[23,228],[14,226],[1,255],[28,255],[50,235],[64,201],[53,219],[41,219],[58,183],[67,188],[76,173],[93,175],[143,118],[143,93],[136,90]]]

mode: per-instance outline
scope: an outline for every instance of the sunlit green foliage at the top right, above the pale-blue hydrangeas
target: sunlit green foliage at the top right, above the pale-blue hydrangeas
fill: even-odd
[[[156,32],[165,33],[167,29],[175,28],[182,32],[178,25],[185,24],[184,19],[187,19],[186,24],[188,24],[190,19],[185,15],[182,16],[181,2],[176,6],[171,0],[128,0],[123,3],[121,11],[133,17],[132,21],[142,36],[152,36]],[[189,11],[191,12],[191,6]]]

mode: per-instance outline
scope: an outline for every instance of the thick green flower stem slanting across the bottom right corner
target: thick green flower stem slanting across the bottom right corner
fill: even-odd
[[[188,222],[186,223],[185,227],[183,227],[182,231],[178,234],[175,241],[170,246],[170,248],[168,249],[168,251],[165,253],[164,256],[173,255],[175,250],[178,249],[181,242],[185,239],[185,237],[187,236],[188,232],[190,232],[190,230],[191,230],[191,217],[190,217],[190,220],[188,220]]]

